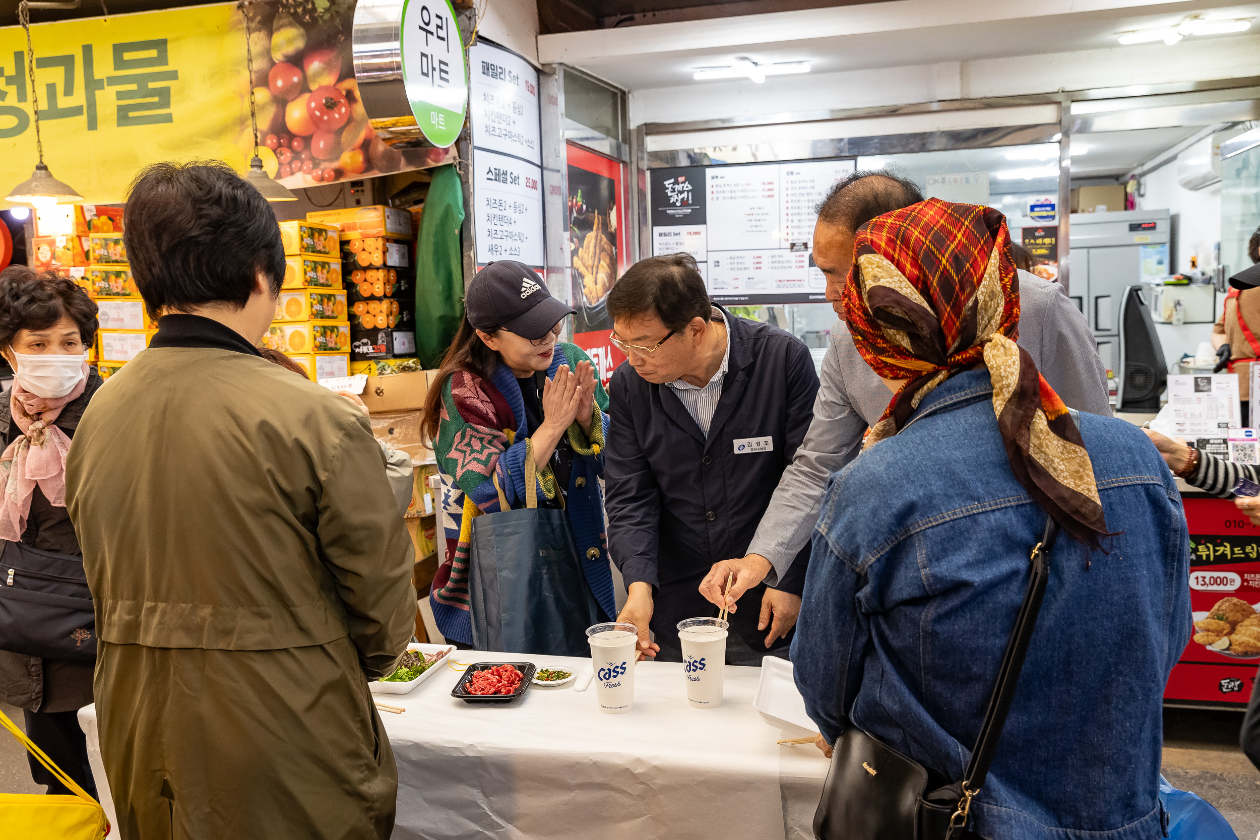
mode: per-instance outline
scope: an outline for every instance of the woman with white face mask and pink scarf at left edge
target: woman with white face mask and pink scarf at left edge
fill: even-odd
[[[38,564],[48,554],[71,562],[83,555],[66,511],[66,453],[102,382],[86,355],[96,336],[96,304],[69,277],[25,266],[0,272],[0,355],[15,373],[13,390],[0,398],[0,548],[9,548],[0,559],[19,549],[34,549],[20,555],[21,565]],[[0,574],[0,586],[6,579],[13,586],[14,564],[0,563],[0,573],[9,574]],[[23,709],[30,738],[94,796],[77,719],[78,709],[92,703],[92,670],[91,662],[8,651],[0,636],[0,700]],[[49,793],[69,792],[34,759],[30,768]]]

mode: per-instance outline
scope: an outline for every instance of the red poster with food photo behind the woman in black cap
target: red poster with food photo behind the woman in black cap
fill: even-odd
[[[627,268],[625,166],[576,144],[568,144],[567,157],[573,343],[591,355],[607,385],[625,360],[609,340],[607,312],[609,292]]]

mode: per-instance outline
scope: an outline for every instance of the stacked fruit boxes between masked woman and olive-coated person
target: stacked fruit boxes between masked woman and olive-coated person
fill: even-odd
[[[96,301],[101,329],[96,332],[97,370],[108,379],[149,346],[158,324],[145,311],[131,278],[122,232],[91,233],[88,266],[79,281]]]

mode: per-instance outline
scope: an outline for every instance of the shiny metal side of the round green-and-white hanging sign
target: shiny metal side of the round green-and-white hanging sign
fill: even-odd
[[[398,26],[404,0],[359,0],[354,9],[354,76],[368,121],[394,149],[432,147],[425,139],[402,81]]]

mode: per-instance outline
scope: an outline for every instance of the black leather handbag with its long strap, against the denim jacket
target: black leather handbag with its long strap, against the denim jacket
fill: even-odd
[[[823,800],[814,814],[818,840],[958,840],[963,836],[970,821],[971,800],[989,773],[1019,683],[1046,594],[1050,552],[1057,536],[1058,525],[1047,518],[1041,542],[1032,549],[1028,588],[963,778],[940,785],[941,775],[850,725],[832,753]]]

